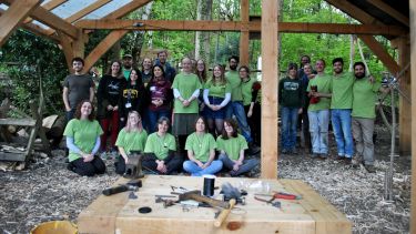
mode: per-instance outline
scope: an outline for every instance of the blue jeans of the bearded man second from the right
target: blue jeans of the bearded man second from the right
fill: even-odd
[[[354,143],[352,134],[351,109],[331,110],[332,126],[339,156],[352,157],[354,154]]]

